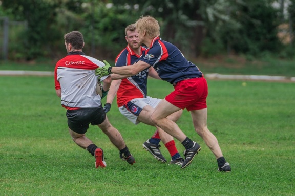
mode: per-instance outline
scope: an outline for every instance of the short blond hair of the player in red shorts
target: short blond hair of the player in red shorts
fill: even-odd
[[[160,36],[158,21],[152,16],[141,16],[135,23],[137,31],[145,31],[150,38]]]

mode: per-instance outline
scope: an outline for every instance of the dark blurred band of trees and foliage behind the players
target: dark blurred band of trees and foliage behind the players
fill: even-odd
[[[188,59],[294,57],[295,0],[0,0],[0,59],[57,61],[64,34],[78,30],[87,55],[114,60],[125,27],[142,15]]]

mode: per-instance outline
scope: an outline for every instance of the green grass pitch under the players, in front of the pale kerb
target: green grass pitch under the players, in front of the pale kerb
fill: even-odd
[[[181,170],[142,149],[155,128],[133,125],[115,102],[108,117],[136,164],[121,161],[108,138],[91,126],[87,136],[104,149],[107,162],[95,169],[94,158],[71,140],[53,77],[0,77],[0,195],[295,195],[293,83],[208,80],[208,128],[233,170],[219,173],[187,111],[178,124],[202,150]],[[149,81],[150,96],[164,98],[172,90],[167,82]],[[168,159],[164,145],[161,150]]]

